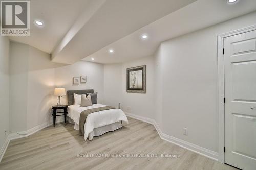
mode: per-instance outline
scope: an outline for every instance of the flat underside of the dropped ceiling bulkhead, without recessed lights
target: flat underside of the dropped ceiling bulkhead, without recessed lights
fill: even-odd
[[[54,62],[72,64],[89,56],[106,45],[127,36],[149,23],[172,13],[195,0],[106,0],[90,14],[83,14],[86,21],[71,40],[63,39],[65,47],[58,47],[52,54]],[[93,0],[95,3],[95,0]],[[97,1],[96,1],[97,2]],[[90,8],[92,9],[92,8]],[[86,12],[86,11],[85,11]],[[90,15],[90,18],[88,17]],[[89,19],[88,19],[89,18]],[[80,24],[81,25],[81,24]]]

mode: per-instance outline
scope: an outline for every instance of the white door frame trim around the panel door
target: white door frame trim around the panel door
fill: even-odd
[[[218,145],[218,161],[225,163],[224,157],[224,146],[225,146],[225,77],[224,77],[224,38],[230,37],[237,34],[246,33],[249,31],[256,30],[256,25],[249,26],[246,28],[234,30],[224,34],[217,35],[217,60],[218,60],[218,123],[219,123],[219,145]]]

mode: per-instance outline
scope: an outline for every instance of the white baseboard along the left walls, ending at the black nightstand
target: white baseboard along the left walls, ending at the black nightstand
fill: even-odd
[[[59,123],[59,122],[62,122],[61,120],[59,121],[56,121],[56,123]],[[22,131],[22,132],[18,132],[19,134],[27,134],[27,135],[19,135],[19,134],[16,134],[16,133],[11,133],[7,136],[1,150],[0,150],[0,162],[2,161],[3,157],[4,157],[4,154],[6,152],[6,149],[10,143],[11,140],[14,140],[14,139],[19,139],[19,138],[23,138],[23,137],[28,137],[28,135],[32,135],[33,133],[36,133],[38,132],[39,130],[42,130],[50,125],[52,125],[53,122],[46,122],[44,124],[41,124],[41,125],[37,125],[35,126],[34,128],[31,128],[27,131]]]

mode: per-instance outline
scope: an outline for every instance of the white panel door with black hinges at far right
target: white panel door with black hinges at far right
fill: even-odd
[[[256,31],[224,38],[225,163],[256,169]]]

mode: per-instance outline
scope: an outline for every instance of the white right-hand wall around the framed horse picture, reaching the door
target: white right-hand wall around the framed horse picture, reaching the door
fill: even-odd
[[[250,13],[162,42],[154,57],[104,65],[104,102],[121,102],[125,112],[155,119],[164,134],[218,152],[217,35],[255,25],[255,18]],[[139,65],[147,65],[147,92],[126,93],[126,68]]]

